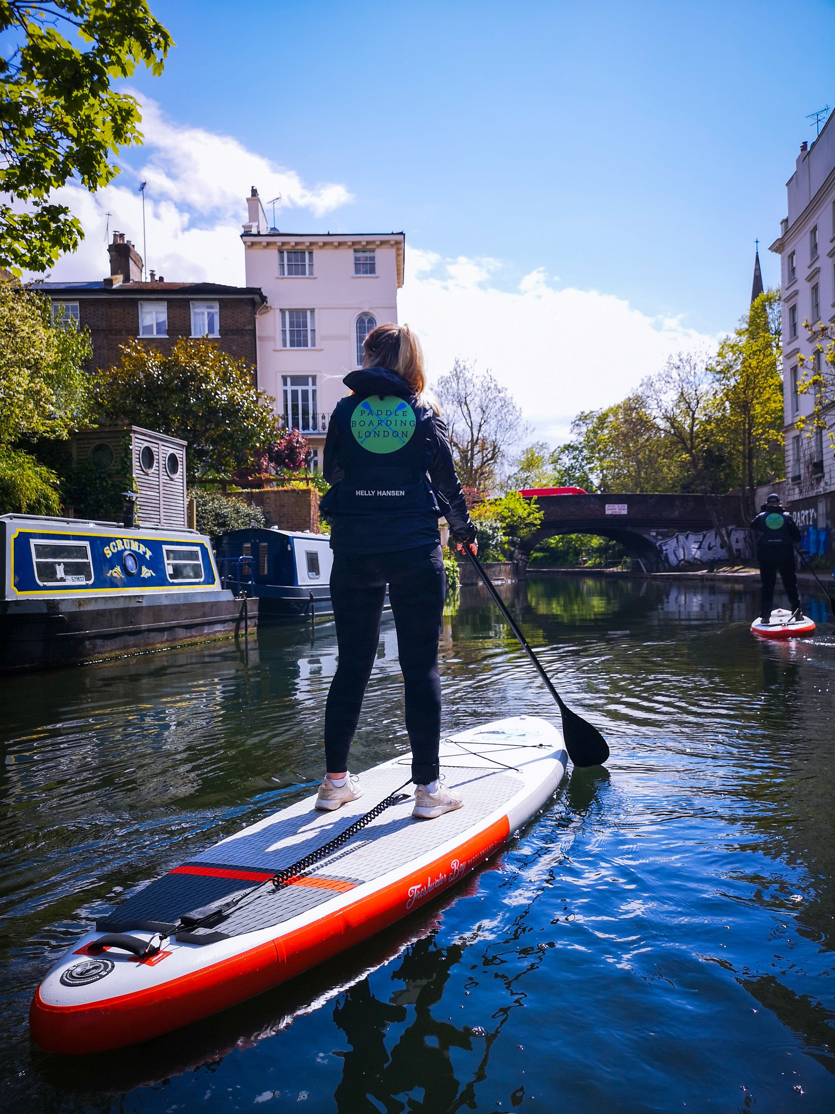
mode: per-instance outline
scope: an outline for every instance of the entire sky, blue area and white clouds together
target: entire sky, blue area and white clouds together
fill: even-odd
[[[401,320],[432,378],[491,368],[537,436],[564,437],[749,297],[807,114],[835,105],[835,4],[153,0],[165,72],[137,71],[146,145],[66,196],[106,270],[109,227],[168,278],[243,282],[244,197],[286,231],[406,234]]]

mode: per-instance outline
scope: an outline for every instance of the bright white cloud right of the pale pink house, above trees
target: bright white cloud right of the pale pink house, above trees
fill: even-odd
[[[400,320],[421,336],[430,381],[455,356],[477,360],[511,391],[532,437],[552,444],[566,440],[579,410],[610,405],[668,355],[716,342],[611,294],[556,289],[542,268],[503,290],[499,270],[491,258],[444,260],[412,248]]]

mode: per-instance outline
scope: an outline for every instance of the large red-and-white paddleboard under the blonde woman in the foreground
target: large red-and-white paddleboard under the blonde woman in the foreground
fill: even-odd
[[[441,744],[441,768],[462,809],[413,820],[403,790],[281,886],[276,872],[400,789],[411,755],[365,771],[364,795],[335,812],[317,812],[314,795],[245,828],[139,890],[65,954],[32,1000],[35,1040],[53,1053],[118,1048],[301,974],[469,873],[544,804],[567,761],[559,731],[534,716],[454,735]]]

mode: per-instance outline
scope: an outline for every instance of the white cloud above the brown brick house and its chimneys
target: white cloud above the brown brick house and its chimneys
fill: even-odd
[[[139,99],[139,98],[138,98]],[[106,229],[124,232],[143,254],[140,182],[146,188],[147,266],[169,280],[243,285],[244,253],[238,238],[247,219],[246,197],[257,186],[272,219],[271,197],[282,196],[276,219],[287,208],[320,217],[352,201],[345,186],[306,186],[294,170],[247,150],[230,136],[175,124],[153,100],[141,104],[145,163],[122,167],[114,183],[96,194],[70,185],[55,199],[68,205],[85,229],[78,252],[52,268],[55,281],[104,278],[109,272]]]

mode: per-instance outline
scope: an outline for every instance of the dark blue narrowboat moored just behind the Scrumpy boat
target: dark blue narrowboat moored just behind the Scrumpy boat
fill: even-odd
[[[257,598],[262,619],[333,614],[333,553],[325,534],[276,526],[229,530],[217,539],[217,563],[225,587]]]

